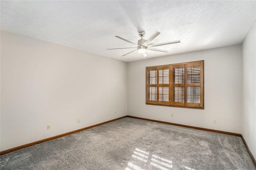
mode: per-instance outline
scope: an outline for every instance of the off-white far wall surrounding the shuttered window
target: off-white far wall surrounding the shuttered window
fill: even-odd
[[[145,104],[145,67],[198,60],[204,60],[204,110]],[[241,71],[241,45],[130,62],[128,115],[241,133]]]

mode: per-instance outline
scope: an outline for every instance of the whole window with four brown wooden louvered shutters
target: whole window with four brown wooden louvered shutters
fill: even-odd
[[[204,109],[204,61],[146,67],[146,104]]]

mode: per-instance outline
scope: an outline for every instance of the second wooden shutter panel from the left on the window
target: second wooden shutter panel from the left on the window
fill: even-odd
[[[158,103],[169,104],[169,66],[158,67]]]

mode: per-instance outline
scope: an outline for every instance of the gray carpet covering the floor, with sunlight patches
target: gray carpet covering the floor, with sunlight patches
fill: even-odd
[[[0,156],[1,170],[256,170],[242,138],[124,118]]]

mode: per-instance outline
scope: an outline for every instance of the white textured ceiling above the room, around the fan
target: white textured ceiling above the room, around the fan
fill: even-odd
[[[136,61],[242,43],[256,19],[256,1],[3,1],[1,30],[122,61]],[[170,52],[137,51],[115,36],[137,43],[155,31],[155,47]]]

